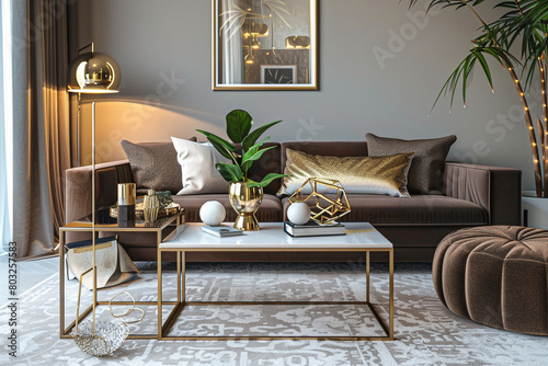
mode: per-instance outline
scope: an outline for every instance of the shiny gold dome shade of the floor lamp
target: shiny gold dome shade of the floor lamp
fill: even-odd
[[[68,91],[73,93],[117,93],[122,73],[118,64],[102,53],[79,55],[69,66]]]

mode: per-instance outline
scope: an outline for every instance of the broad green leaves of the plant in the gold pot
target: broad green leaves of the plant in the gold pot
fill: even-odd
[[[215,165],[220,175],[222,175],[227,182],[246,182],[249,187],[265,187],[272,181],[286,176],[278,173],[269,173],[261,180],[261,182],[255,182],[248,178],[249,169],[253,162],[261,159],[264,152],[275,148],[275,146],[271,146],[261,149],[262,145],[270,140],[270,137],[266,137],[258,142],[259,138],[269,128],[281,123],[282,121],[267,123],[253,131],[251,131],[253,118],[251,118],[250,114],[246,111],[235,110],[227,114],[226,121],[228,138],[230,138],[233,144],[241,144],[241,153],[238,153],[238,148],[226,139],[202,129],[196,130],[204,134],[215,149],[220,152],[220,155],[232,161],[232,163],[218,162]]]

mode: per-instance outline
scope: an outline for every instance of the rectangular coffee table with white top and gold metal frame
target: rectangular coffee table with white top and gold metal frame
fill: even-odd
[[[229,225],[229,224],[227,224]],[[178,227],[176,232],[170,235],[158,245],[158,340],[352,340],[352,341],[391,341],[393,340],[393,247],[383,235],[367,222],[345,222],[345,236],[301,237],[293,238],[283,230],[282,222],[263,222],[261,230],[247,231],[243,236],[217,238],[202,231],[202,224],[186,224]],[[366,299],[365,301],[186,301],[185,300],[185,263],[186,252],[365,252],[366,253]],[[165,322],[162,322],[162,306],[173,305],[172,301],[162,301],[162,266],[161,259],[165,252],[176,253],[178,295],[174,308]],[[389,311],[388,322],[369,301],[369,253],[387,252],[389,255]],[[196,305],[359,305],[368,307],[386,336],[176,336],[168,335],[185,306]]]

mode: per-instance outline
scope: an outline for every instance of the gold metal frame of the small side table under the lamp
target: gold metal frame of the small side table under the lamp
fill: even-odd
[[[116,224],[110,225],[95,225],[96,232],[152,232],[157,236],[157,247],[160,247],[162,242],[163,230],[169,226],[175,226],[175,229],[168,235],[163,240],[169,240],[172,236],[175,236],[178,230],[176,228],[184,222],[184,209],[181,209],[176,215],[161,218],[158,220],[158,225],[156,227],[146,227],[144,224],[137,224],[135,227],[130,228],[119,228]],[[66,271],[68,268],[65,267],[65,243],[66,243],[66,235],[67,232],[91,232],[91,222],[88,220],[77,220],[70,222],[62,228],[60,228],[59,233],[59,338],[60,339],[72,339],[70,332],[76,325],[76,319],[70,322],[67,327],[65,327],[65,281],[66,281]],[[161,262],[160,262],[161,263]],[[160,265],[161,266],[161,265]],[[98,299],[98,291],[93,291],[93,300],[95,306],[109,306],[110,301],[100,301]],[[164,302],[165,305],[176,305],[176,302]],[[134,305],[133,301],[112,301],[112,305]],[[158,306],[158,301],[135,301],[135,305],[145,305],[145,306]],[[88,317],[93,310],[93,304],[90,305],[87,309],[80,312],[78,317],[78,322],[80,323],[85,317]],[[75,309],[76,312],[76,309]],[[75,317],[76,318],[76,317]],[[156,340],[158,339],[158,334],[132,334],[127,336],[129,340]]]

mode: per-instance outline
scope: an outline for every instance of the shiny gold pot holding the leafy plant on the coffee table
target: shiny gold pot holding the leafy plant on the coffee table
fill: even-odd
[[[263,202],[263,187],[248,187],[246,182],[231,182],[228,190],[230,205],[238,214],[235,228],[244,231],[259,230],[255,211]]]

